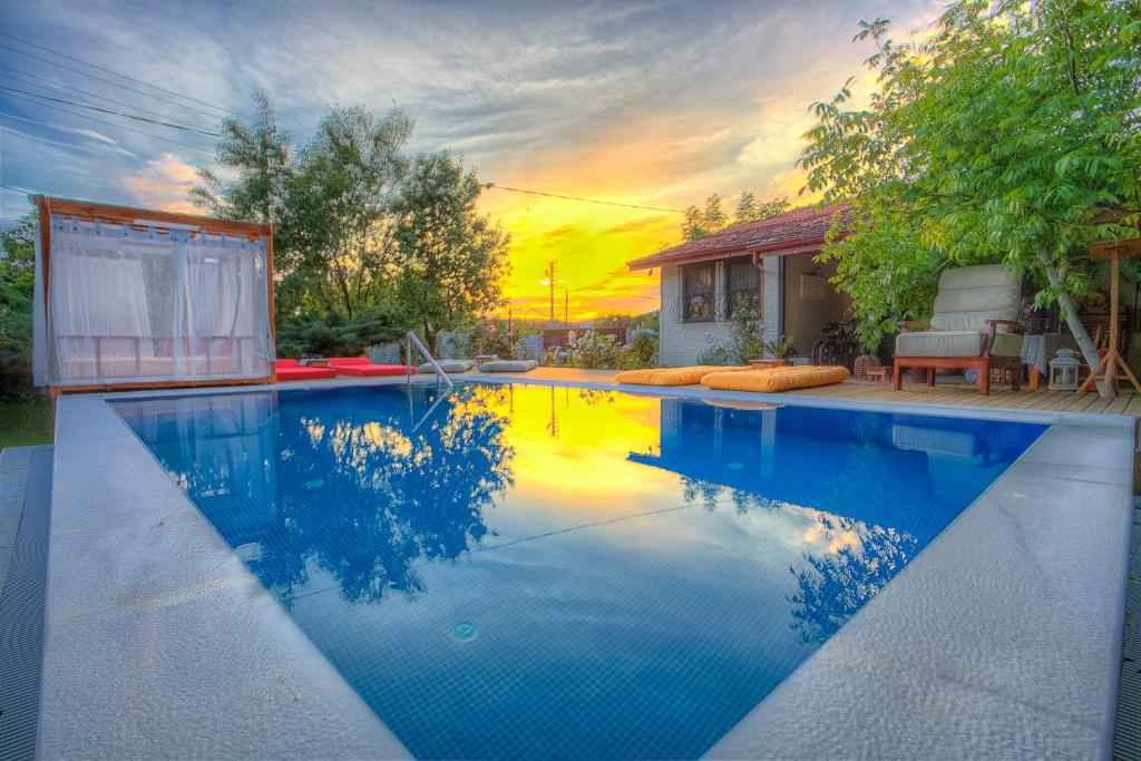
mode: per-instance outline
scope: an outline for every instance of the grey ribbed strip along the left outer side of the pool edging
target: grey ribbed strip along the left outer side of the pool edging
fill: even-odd
[[[0,761],[35,754],[51,447],[0,452]]]

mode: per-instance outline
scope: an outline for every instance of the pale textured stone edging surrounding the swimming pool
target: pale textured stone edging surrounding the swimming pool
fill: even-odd
[[[1053,426],[709,755],[1108,758],[1134,419],[780,403]],[[42,756],[406,755],[102,396],[59,399],[52,486]]]

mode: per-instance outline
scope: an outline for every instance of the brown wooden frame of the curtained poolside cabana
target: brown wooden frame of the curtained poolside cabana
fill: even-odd
[[[241,236],[252,241],[264,238],[266,242],[266,282],[268,288],[269,308],[269,334],[276,339],[276,327],[274,325],[274,226],[260,222],[241,221],[236,219],[215,219],[200,214],[184,214],[172,211],[159,211],[155,209],[137,209],[132,207],[119,207],[107,203],[94,203],[90,201],[75,201],[72,199],[55,199],[46,195],[32,196],[32,203],[39,209],[40,220],[40,250],[41,272],[38,273],[43,281],[43,307],[46,314],[51,309],[51,283],[50,283],[50,260],[51,260],[51,216],[64,214],[75,217],[82,221],[103,220],[130,226],[133,229],[144,230],[153,227],[160,233],[169,234],[173,229],[194,226],[197,233],[215,234],[226,233],[227,235]],[[157,222],[156,225],[139,225],[138,220]],[[163,227],[162,222],[168,222],[171,227]],[[262,383],[274,383],[277,380],[277,372],[274,367],[273,358],[269,361],[269,374],[260,378],[218,379],[218,380],[171,380],[171,381],[140,381],[122,383],[90,383],[75,386],[49,386],[48,392],[56,397],[59,394],[79,394],[87,391],[120,391],[131,389],[161,389],[161,388],[193,388],[202,386],[251,386]]]

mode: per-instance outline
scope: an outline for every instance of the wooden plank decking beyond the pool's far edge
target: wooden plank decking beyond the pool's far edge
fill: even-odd
[[[529,380],[557,380],[572,383],[613,383],[616,372],[610,370],[578,370],[574,367],[536,367],[529,373],[503,374]],[[669,392],[667,388],[662,390],[663,392]],[[968,407],[1052,410],[1057,412],[1128,414],[1141,418],[1141,395],[1125,389],[1122,389],[1115,399],[1102,399],[1097,394],[1049,391],[1045,386],[1037,391],[1031,391],[1025,386],[1021,391],[1011,391],[1009,387],[995,383],[990,387],[990,396],[981,396],[974,384],[962,381],[944,381],[934,388],[924,383],[904,383],[903,390],[896,391],[892,390],[891,383],[872,383],[849,379],[835,386],[786,391],[786,394],[817,398],[858,399],[860,402],[905,402]]]

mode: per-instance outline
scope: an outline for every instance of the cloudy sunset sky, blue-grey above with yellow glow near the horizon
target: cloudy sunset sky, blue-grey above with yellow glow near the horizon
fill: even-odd
[[[451,147],[485,181],[669,209],[711,193],[731,208],[751,188],[795,205],[810,200],[794,168],[809,105],[851,75],[866,89],[857,22],[888,16],[903,33],[941,5],[9,2],[0,224],[30,209],[24,189],[193,211],[195,167],[212,164],[208,136],[30,94],[210,131],[217,106],[248,113],[264,89],[298,140],[330,105],[396,104],[416,121],[412,149]],[[518,315],[547,316],[551,259],[572,319],[657,307],[657,273],[624,262],[677,243],[680,214],[500,189],[482,204],[512,235]]]

